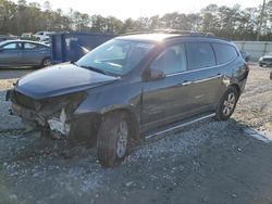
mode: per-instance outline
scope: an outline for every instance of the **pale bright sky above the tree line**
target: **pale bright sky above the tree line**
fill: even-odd
[[[16,2],[16,0],[13,0]],[[115,16],[120,20],[139,16],[163,15],[170,12],[196,13],[210,3],[233,7],[235,3],[242,8],[258,7],[262,0],[49,0],[53,9],[61,8],[67,12],[73,10],[89,15],[100,14],[102,16]],[[38,2],[41,5],[45,0],[27,0]]]

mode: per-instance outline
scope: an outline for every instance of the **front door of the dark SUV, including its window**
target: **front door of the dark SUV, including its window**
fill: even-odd
[[[185,44],[165,48],[150,64],[164,77],[143,84],[143,130],[157,128],[186,117],[189,106],[189,85],[186,84],[187,60]]]

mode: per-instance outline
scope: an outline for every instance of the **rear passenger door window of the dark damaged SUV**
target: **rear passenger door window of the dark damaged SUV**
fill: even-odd
[[[187,44],[189,69],[215,66],[215,56],[208,42],[191,42]]]

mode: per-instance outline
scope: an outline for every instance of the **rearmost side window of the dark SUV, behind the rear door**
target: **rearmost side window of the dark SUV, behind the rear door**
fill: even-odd
[[[233,46],[224,43],[212,43],[218,64],[225,64],[237,58],[237,51]]]

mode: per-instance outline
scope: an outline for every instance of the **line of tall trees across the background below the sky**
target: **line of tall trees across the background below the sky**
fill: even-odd
[[[162,16],[121,21],[114,16],[89,15],[73,9],[64,13],[61,9],[53,10],[49,1],[40,5],[36,2],[27,3],[26,0],[18,0],[17,3],[0,0],[0,34],[75,30],[120,35],[172,28],[213,33],[232,40],[256,40],[261,8],[210,4],[198,13],[173,12]],[[272,0],[264,8],[262,22],[260,40],[272,40]]]

